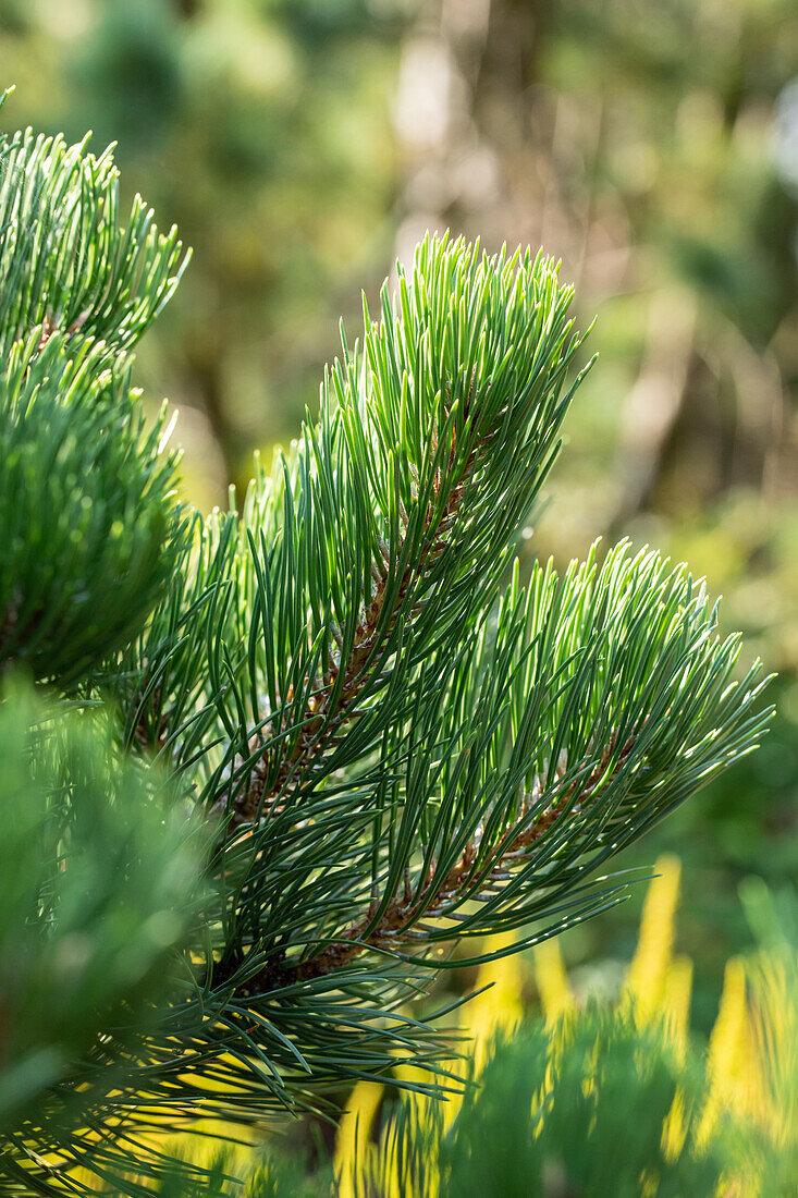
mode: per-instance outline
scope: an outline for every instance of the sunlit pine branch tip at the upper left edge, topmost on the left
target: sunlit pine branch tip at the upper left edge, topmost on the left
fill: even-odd
[[[28,129],[0,145],[0,358],[41,329],[78,332],[109,350],[129,349],[174,294],[188,254],[177,232],[158,232],[137,195],[127,225],[119,210],[113,147]]]

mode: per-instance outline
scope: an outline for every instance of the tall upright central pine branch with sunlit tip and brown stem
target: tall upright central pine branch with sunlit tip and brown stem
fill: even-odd
[[[256,762],[222,799],[234,829],[337,768],[356,707],[376,743],[394,714],[387,696],[490,601],[573,392],[561,394],[579,346],[569,302],[540,258],[431,238],[393,308],[383,290],[382,321],[367,313],[362,355],[344,341],[318,429],[244,512],[248,654],[254,664],[260,633],[265,671],[244,689],[265,690],[267,708],[252,703],[254,740],[240,731],[238,761]]]

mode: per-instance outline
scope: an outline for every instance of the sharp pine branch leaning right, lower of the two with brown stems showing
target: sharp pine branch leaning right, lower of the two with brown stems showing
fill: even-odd
[[[580,613],[580,625],[568,628],[568,612],[572,621]],[[349,801],[337,787],[315,801],[306,797],[294,815],[272,817],[276,849],[288,843],[289,827],[297,841],[297,885],[288,864],[274,889],[264,870],[262,893],[248,890],[242,910],[255,902],[268,910],[261,944],[270,934],[274,943],[296,934],[300,951],[283,949],[254,973],[248,966],[246,993],[338,970],[341,985],[369,949],[412,952],[421,963],[425,946],[453,936],[550,914],[554,922],[538,922],[534,932],[549,936],[590,914],[605,901],[601,888],[587,885],[600,861],[748,751],[762,731],[767,713],[755,713],[761,686],[751,685],[751,674],[729,688],[738,647],[734,639],[713,640],[714,623],[689,576],[669,575],[655,555],[629,559],[619,546],[600,571],[590,562],[561,582],[551,569],[538,570],[528,595],[508,595],[496,631],[463,666],[458,685],[471,696],[467,714],[449,689],[421,718],[413,713],[416,739],[397,731],[395,750],[374,768],[377,778],[395,776],[405,763],[385,816],[367,783]],[[325,818],[337,804],[347,811],[345,833]],[[362,839],[369,828],[370,847]],[[333,837],[331,866],[345,857],[345,843],[352,863],[338,887],[332,875],[319,893],[316,861]],[[404,849],[392,847],[398,843]],[[322,931],[333,912],[343,915],[359,901],[369,858],[380,864],[369,867],[373,893],[361,914],[337,933]],[[434,956],[429,962],[440,964]],[[223,963],[214,981],[224,970],[230,976]]]

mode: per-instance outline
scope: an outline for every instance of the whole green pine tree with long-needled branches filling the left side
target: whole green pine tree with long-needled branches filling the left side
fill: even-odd
[[[144,1193],[149,1132],[331,1112],[398,1060],[435,1093],[407,1004],[453,944],[619,901],[597,872],[768,718],[685,567],[520,576],[587,369],[555,262],[428,236],[202,520],[131,387],[186,261],[110,151],[4,145],[5,1193]]]

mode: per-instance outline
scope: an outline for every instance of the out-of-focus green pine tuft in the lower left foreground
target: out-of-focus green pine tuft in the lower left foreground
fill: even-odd
[[[43,1125],[48,1143],[71,1144],[135,1059],[199,920],[206,837],[164,778],[111,757],[99,719],[22,679],[1,696],[5,1186]]]

